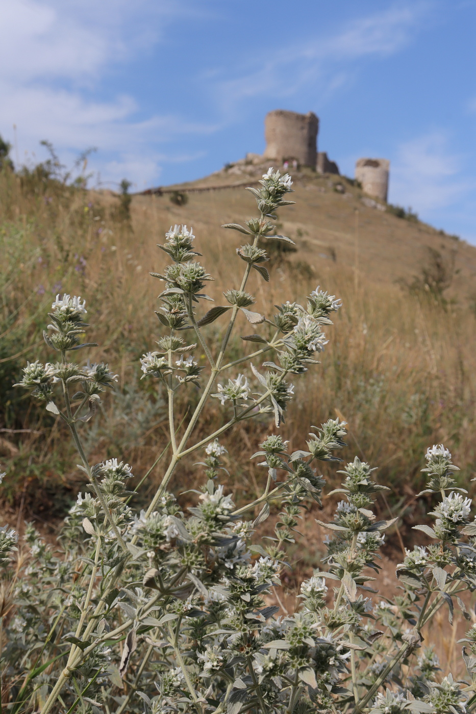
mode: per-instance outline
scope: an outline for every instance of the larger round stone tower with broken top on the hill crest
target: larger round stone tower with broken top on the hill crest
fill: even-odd
[[[309,111],[297,114],[295,111],[274,109],[264,119],[266,159],[292,161],[315,168],[317,159],[317,131],[319,119]]]

